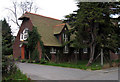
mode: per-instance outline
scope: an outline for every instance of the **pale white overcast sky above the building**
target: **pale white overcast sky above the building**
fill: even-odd
[[[0,3],[0,20],[6,18],[9,22],[13,35],[16,36],[19,28],[10,20],[13,15],[6,8],[13,8],[13,1],[24,1],[24,0],[2,0]],[[27,0],[29,1],[29,0]],[[77,10],[76,0],[33,0],[34,4],[39,7],[37,14],[52,17],[56,19],[64,19],[65,15],[73,13],[73,11]],[[18,9],[18,11],[20,11]],[[19,17],[21,14],[18,15]],[[20,21],[21,22],[21,21]]]

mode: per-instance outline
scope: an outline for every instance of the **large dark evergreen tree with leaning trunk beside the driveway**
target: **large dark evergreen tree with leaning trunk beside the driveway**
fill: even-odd
[[[79,48],[90,48],[90,59],[87,66],[92,64],[95,49],[99,47],[104,52],[109,50],[115,51],[118,47],[116,44],[117,33],[115,25],[111,22],[110,14],[118,12],[116,5],[119,3],[98,3],[98,2],[79,2],[77,16],[68,18],[74,20],[66,20],[73,25],[76,35],[74,45]],[[113,11],[111,8],[116,8]]]

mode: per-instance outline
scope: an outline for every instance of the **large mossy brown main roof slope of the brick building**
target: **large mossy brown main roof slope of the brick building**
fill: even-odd
[[[45,17],[42,15],[26,12],[19,19],[29,18],[32,24],[37,27],[44,46],[61,46],[61,43],[54,36],[54,26],[62,24],[61,20]]]

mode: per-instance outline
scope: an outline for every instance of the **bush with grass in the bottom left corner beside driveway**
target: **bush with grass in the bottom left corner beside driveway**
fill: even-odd
[[[14,60],[8,56],[2,57],[2,80],[28,80],[25,74],[17,68]]]

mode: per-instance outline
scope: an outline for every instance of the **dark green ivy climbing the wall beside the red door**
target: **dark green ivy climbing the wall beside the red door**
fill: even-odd
[[[44,57],[44,46],[41,41],[41,36],[37,31],[37,27],[33,27],[32,31],[29,31],[27,48],[29,50],[30,59],[39,61],[39,51],[37,49],[37,44],[40,42],[40,47],[42,49],[42,57]]]

